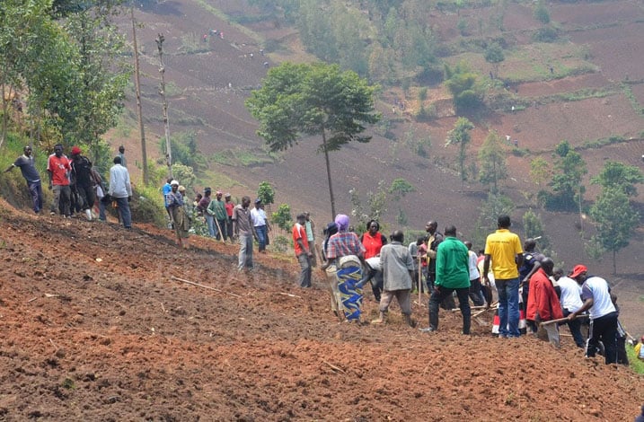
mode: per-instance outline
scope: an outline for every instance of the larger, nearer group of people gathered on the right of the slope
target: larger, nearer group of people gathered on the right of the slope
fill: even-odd
[[[311,256],[314,246],[304,242],[306,215],[298,215],[297,219],[293,229],[294,243],[298,245],[296,256],[302,274],[310,277],[310,259],[303,257]],[[444,308],[460,311],[462,333],[470,334],[472,302],[477,309],[496,308],[498,324],[492,333],[498,338],[528,334],[559,348],[560,326],[568,325],[585,356],[601,354],[606,364],[628,365],[626,335],[608,282],[588,274],[583,264],[564,275],[551,258],[535,250],[534,239],[522,244],[510,226],[510,217],[500,215],[498,230],[490,233],[485,248],[477,254],[472,251],[472,242],[458,239],[456,227],[451,224],[440,233],[437,222],[430,221],[426,236],[405,245],[400,230],[393,231],[387,240],[379,232],[378,222],[371,221],[366,224],[366,233],[358,236],[348,216],[337,215],[324,229],[320,249],[321,268],[330,287],[331,311],[340,319],[360,323],[362,288],[370,283],[379,303],[379,316],[372,324],[387,321],[395,297],[403,321],[415,327],[411,291],[428,289],[428,327],[420,329],[423,332],[438,330],[439,309]]]

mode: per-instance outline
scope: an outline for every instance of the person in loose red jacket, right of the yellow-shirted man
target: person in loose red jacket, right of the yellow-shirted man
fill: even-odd
[[[533,321],[538,327],[537,336],[542,338],[543,330],[547,333],[551,345],[559,348],[559,328],[557,324],[540,325],[541,322],[559,320],[563,318],[559,297],[552,286],[550,276],[554,262],[550,258],[543,258],[539,268],[530,277],[530,296],[527,307],[527,320]]]

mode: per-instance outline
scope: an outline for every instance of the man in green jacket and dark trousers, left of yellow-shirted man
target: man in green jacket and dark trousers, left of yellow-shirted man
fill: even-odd
[[[456,227],[448,225],[446,238],[440,242],[436,256],[436,280],[429,296],[429,327],[425,331],[438,330],[438,305],[454,291],[458,307],[463,315],[463,334],[470,334],[470,267],[467,247],[456,238]]]

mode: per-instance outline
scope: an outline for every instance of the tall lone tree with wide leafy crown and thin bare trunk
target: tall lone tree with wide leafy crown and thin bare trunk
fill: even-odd
[[[318,152],[326,162],[332,217],[335,197],[329,153],[351,141],[371,140],[361,134],[365,124],[380,119],[374,106],[376,89],[355,72],[340,72],[337,65],[283,63],[269,70],[261,88],[245,102],[260,121],[258,135],[273,152],[287,150],[304,136],[322,138]]]

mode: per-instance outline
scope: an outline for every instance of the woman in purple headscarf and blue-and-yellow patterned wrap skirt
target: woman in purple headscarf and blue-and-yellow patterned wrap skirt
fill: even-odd
[[[334,264],[337,268],[338,290],[347,321],[360,321],[362,306],[362,288],[359,281],[362,278],[365,247],[360,243],[357,234],[348,232],[348,215],[339,214],[335,217],[338,233],[329,238],[326,248],[327,262],[322,269]]]

